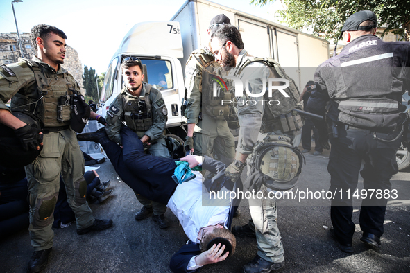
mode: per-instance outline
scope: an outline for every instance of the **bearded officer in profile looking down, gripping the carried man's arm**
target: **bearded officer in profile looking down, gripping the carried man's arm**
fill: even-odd
[[[301,125],[296,116],[291,114],[291,109],[296,107],[300,98],[298,90],[289,78],[287,78],[287,82],[290,88],[282,90],[288,96],[283,96],[278,90],[274,90],[273,95],[268,97],[269,79],[283,78],[284,76],[286,78],[287,76],[274,60],[266,62],[265,60],[268,58],[253,58],[248,55],[244,49],[241,34],[236,27],[225,25],[216,30],[212,34],[211,48],[216,60],[224,69],[233,69],[233,71],[230,71],[230,75],[237,76],[242,82],[248,84],[247,87],[244,86],[243,96],[237,98],[236,103],[240,125],[236,157],[234,162],[225,170],[225,175],[230,177],[232,181],[237,181],[246,166],[246,159],[249,155],[254,155],[253,150],[259,132],[275,135],[279,139],[289,139],[289,141],[293,139],[296,128],[300,129]],[[282,77],[279,75],[282,75]],[[280,86],[282,84],[273,82],[273,85]],[[255,100],[253,101],[256,102],[259,99],[256,98],[257,95],[263,92],[263,98],[266,101],[280,100],[280,105],[270,107],[268,103],[262,103],[260,100],[257,103],[248,103],[248,100],[254,97]],[[255,96],[252,96],[253,94]],[[264,134],[262,139],[265,136]],[[285,153],[287,152],[291,153],[290,150]],[[286,162],[282,166],[284,169],[293,169],[294,166],[290,164],[293,159],[289,157],[283,157],[282,159]],[[266,162],[266,164],[273,169],[278,166],[277,162],[274,165],[273,161]],[[250,167],[253,166],[254,164],[250,164]],[[250,170],[253,170],[253,168],[248,168],[248,172]],[[271,272],[284,266],[283,246],[279,229],[277,229],[277,204],[275,200],[267,197],[272,189],[268,188],[266,184],[255,186],[255,180],[253,175],[248,175],[244,187],[248,190],[255,188],[255,191],[262,192],[265,198],[249,200],[252,220],[244,227],[233,227],[232,233],[239,237],[251,236],[257,238],[257,256],[253,261],[244,265],[244,272]]]

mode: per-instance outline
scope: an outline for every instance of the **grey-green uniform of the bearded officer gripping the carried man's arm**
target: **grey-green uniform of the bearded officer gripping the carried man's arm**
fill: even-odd
[[[237,66],[232,72],[239,74],[235,76],[239,76],[242,82],[245,83],[245,79],[248,80],[248,89],[251,93],[259,94],[261,91],[266,90],[263,80],[268,82],[268,78],[281,78],[274,69],[259,62],[253,62],[246,66],[246,69],[241,70],[247,59],[248,53],[243,49],[237,58]],[[264,103],[259,101],[255,105],[253,105],[254,103],[246,104],[247,100],[262,99],[280,100],[281,104],[286,105],[287,100],[291,98],[285,98],[279,92],[273,92],[273,96],[269,98],[267,91],[262,98],[250,97],[245,91],[243,96],[237,98],[240,125],[237,152],[241,154],[250,155],[253,152],[255,143],[258,137],[261,137],[261,133],[274,132],[275,134],[286,135],[283,133],[280,120],[275,118],[272,111],[266,106],[267,101]],[[280,109],[279,106],[277,108]],[[266,261],[281,263],[284,261],[284,251],[280,240],[280,232],[277,228],[277,204],[274,199],[268,197],[268,192],[271,190],[266,185],[262,184],[259,191],[264,194],[262,199],[255,198],[249,200],[252,220],[250,220],[248,225],[256,233],[257,254]]]

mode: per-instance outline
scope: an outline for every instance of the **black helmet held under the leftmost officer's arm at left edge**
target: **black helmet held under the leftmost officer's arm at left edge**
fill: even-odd
[[[19,118],[20,121],[35,127],[38,132],[41,130],[41,123],[31,113],[28,112],[12,112],[13,116]],[[14,130],[12,128],[0,123],[0,165],[4,167],[22,167],[31,164],[42,150],[24,150],[19,139],[17,139]]]

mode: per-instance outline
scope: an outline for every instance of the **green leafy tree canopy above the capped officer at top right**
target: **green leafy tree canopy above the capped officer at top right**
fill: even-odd
[[[251,0],[255,6],[264,6],[277,0]],[[387,24],[384,33],[392,31],[410,40],[410,0],[280,0],[286,10],[276,13],[291,28],[311,28],[314,35],[333,39],[341,34],[346,19],[360,10],[372,10],[378,26]]]

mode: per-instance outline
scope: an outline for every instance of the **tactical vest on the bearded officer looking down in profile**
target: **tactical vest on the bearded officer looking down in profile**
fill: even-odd
[[[299,103],[300,94],[295,81],[292,78],[289,78],[284,69],[280,67],[280,64],[272,58],[247,57],[246,62],[237,68],[236,75],[241,75],[245,67],[253,62],[262,62],[263,64],[266,64],[268,67],[274,69],[276,73],[279,74],[280,78],[289,81],[289,87],[283,89],[286,94],[289,95],[289,98],[283,99],[283,97],[281,97],[278,99],[280,101],[279,105],[266,103],[262,119],[262,132],[280,130],[284,133],[288,133],[300,130],[303,126],[302,118],[297,112],[292,111],[295,108],[302,108]],[[266,84],[268,85],[268,82],[266,82]],[[268,96],[267,92],[265,93],[265,96]],[[268,109],[268,111],[266,111],[266,109]]]

